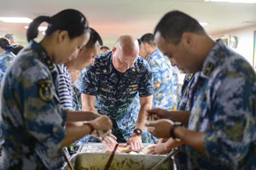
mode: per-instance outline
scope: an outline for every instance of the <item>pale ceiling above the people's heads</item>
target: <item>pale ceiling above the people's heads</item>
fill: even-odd
[[[102,35],[104,44],[110,47],[120,35],[141,37],[154,31],[160,18],[173,9],[190,14],[200,22],[207,22],[204,28],[211,35],[256,26],[256,3],[205,3],[203,0],[0,0],[0,17],[33,19],[41,14],[55,14],[64,8],[76,8],[84,13],[90,26]],[[26,45],[24,26],[27,24],[0,21],[0,36],[12,32],[17,42]]]

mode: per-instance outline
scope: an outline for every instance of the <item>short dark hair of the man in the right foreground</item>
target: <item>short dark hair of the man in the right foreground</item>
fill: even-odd
[[[155,27],[154,35],[158,31],[166,42],[172,42],[176,45],[180,42],[183,32],[192,32],[198,35],[206,34],[197,20],[177,10],[164,15]]]

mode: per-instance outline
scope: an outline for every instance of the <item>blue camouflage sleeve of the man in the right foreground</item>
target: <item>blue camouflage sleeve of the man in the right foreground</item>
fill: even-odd
[[[204,137],[207,155],[223,163],[244,159],[256,132],[255,76],[223,73],[214,84],[212,131]]]

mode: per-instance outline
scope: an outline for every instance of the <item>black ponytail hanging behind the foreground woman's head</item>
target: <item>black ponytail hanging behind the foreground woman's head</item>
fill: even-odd
[[[26,31],[26,39],[28,42],[38,37],[38,26],[42,24],[42,22],[50,22],[49,16],[38,16],[34,19],[28,26]]]

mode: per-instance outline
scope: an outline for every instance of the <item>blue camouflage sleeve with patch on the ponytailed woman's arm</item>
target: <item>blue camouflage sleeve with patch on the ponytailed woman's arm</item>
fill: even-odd
[[[55,95],[49,70],[32,67],[18,77],[15,93],[20,98],[26,130],[36,140],[35,152],[45,165],[60,162],[61,142],[66,136],[65,113]]]

